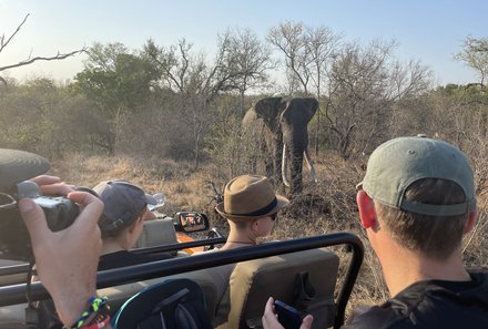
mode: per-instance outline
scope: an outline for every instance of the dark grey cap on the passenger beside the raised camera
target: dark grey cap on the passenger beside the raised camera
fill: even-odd
[[[104,203],[104,216],[99,220],[102,232],[113,232],[126,226],[141,214],[148,204],[157,203],[153,196],[145,194],[139,186],[125,181],[102,182],[93,187],[93,191]]]

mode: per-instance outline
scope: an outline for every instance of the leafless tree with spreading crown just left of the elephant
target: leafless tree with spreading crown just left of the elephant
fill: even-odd
[[[195,53],[193,44],[185,39],[171,47],[159,47],[149,40],[143,49],[144,56],[161,72],[159,88],[171,90],[179,100],[174,107],[185,122],[186,132],[192,132],[195,167],[200,164],[206,133],[214,123],[212,112],[215,114],[217,95],[235,91],[243,95],[267,79],[268,53],[254,34],[227,30],[217,41],[212,61]],[[185,135],[175,135],[175,138]]]

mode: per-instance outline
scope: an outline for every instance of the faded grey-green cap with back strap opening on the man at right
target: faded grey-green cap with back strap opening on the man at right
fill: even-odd
[[[405,199],[405,191],[423,178],[457,183],[466,195],[466,202],[433,205]],[[425,135],[398,137],[379,145],[372,153],[366,175],[357,187],[384,205],[423,215],[462,215],[469,213],[476,204],[468,157],[449,143]]]

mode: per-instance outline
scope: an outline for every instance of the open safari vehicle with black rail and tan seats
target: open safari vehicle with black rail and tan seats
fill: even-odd
[[[225,241],[225,237],[216,237],[177,243],[170,222],[145,223],[139,248],[134,251],[177,253]],[[331,248],[339,245],[347,246],[348,256],[340,257],[346,258],[344,260]],[[270,296],[314,315],[313,328],[339,328],[344,323],[363,253],[357,236],[334,233],[191,257],[180,255],[173,259],[100,271],[98,288],[100,296],[109,297],[111,310],[115,312],[145,287],[170,278],[190,278],[203,290],[205,310],[214,328],[261,328],[261,317]],[[220,298],[209,268],[234,263],[227,289]],[[26,312],[27,294],[30,300],[47,299],[49,294],[39,282],[28,288],[28,264],[8,260],[0,264],[0,328],[38,328],[35,320]],[[346,270],[344,278],[338,280],[339,266]]]

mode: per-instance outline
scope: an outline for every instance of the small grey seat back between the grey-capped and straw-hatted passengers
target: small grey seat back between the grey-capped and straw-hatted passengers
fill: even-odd
[[[142,234],[134,248],[176,244],[176,232],[172,218],[156,218],[144,222]]]

